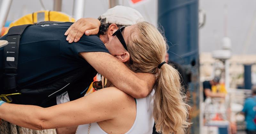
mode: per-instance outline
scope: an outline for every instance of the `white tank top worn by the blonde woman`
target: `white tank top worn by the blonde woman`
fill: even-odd
[[[153,95],[154,90],[142,99],[136,99],[137,114],[132,128],[126,134],[152,134],[154,126]],[[88,134],[89,124],[79,125],[76,134]],[[90,134],[107,134],[97,122],[91,124]]]

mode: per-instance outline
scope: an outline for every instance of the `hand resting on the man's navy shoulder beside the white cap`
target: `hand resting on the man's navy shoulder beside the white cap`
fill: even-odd
[[[100,21],[94,18],[81,18],[73,23],[64,35],[67,35],[68,43],[78,42],[85,35],[97,35]]]

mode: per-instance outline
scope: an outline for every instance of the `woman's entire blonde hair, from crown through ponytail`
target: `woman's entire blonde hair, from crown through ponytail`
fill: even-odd
[[[128,41],[128,52],[133,61],[128,65],[134,72],[156,74],[154,111],[156,131],[160,133],[186,132],[188,105],[184,102],[180,76],[172,65],[158,65],[164,61],[167,51],[165,38],[148,22],[137,23]]]

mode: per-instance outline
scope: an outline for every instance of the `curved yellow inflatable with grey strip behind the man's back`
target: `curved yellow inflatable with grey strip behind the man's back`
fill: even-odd
[[[61,21],[61,22],[75,22],[75,19],[63,12],[57,11],[37,11],[31,14],[25,15],[18,20],[12,22],[9,28],[24,24],[36,24],[41,21]],[[8,33],[9,28],[4,32],[4,35]]]

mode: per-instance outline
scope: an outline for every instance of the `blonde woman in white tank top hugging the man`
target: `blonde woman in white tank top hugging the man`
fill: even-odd
[[[154,121],[158,132],[185,133],[188,105],[183,101],[179,73],[164,62],[167,45],[159,31],[147,22],[123,26],[113,31],[105,45],[132,71],[155,74],[154,90],[148,97],[134,99],[108,87],[48,108],[0,102],[0,118],[36,130],[80,125],[79,134],[152,133]]]

